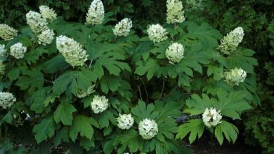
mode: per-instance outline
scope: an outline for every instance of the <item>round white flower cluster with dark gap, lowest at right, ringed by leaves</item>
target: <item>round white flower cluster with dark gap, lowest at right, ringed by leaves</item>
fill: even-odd
[[[211,107],[211,109],[206,109],[202,114],[202,121],[204,125],[207,127],[216,126],[221,123],[221,113],[220,111],[216,111],[215,108]]]

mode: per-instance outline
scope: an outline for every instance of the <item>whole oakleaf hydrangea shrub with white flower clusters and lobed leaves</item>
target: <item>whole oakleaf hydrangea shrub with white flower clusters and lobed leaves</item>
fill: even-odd
[[[259,104],[254,51],[239,45],[240,33],[227,41],[226,54],[226,36],[185,20],[181,1],[167,6],[167,23],[151,23],[139,36],[132,28],[138,19],[117,21],[100,0],[91,2],[85,23],[41,6],[20,31],[5,26],[13,32],[0,34],[1,139],[18,145],[27,137],[23,145],[32,148],[18,148],[26,153],[45,145],[181,153],[180,139],[191,144],[204,131],[220,144],[235,142],[233,120]],[[185,114],[196,118],[176,123]],[[27,132],[13,133],[21,129]]]

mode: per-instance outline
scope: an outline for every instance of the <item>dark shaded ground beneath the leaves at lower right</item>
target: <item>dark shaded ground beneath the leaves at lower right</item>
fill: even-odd
[[[224,142],[222,146],[215,139],[203,137],[190,145],[195,154],[261,154],[261,148],[244,144],[244,139],[238,138],[235,144]]]

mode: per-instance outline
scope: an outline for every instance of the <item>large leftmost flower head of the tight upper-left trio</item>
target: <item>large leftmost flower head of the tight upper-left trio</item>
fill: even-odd
[[[26,15],[27,25],[30,26],[34,34],[39,34],[41,31],[48,29],[48,22],[41,17],[40,13],[30,11]]]

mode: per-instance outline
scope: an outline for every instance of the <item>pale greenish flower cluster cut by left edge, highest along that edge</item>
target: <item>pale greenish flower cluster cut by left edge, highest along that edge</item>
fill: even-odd
[[[0,24],[0,37],[5,41],[11,40],[17,36],[18,31],[6,24]]]

